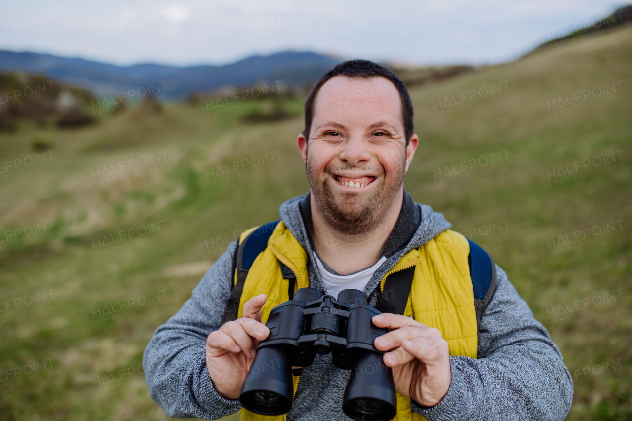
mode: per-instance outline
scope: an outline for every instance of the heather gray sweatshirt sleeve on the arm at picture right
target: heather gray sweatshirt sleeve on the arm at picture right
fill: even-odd
[[[573,381],[547,330],[533,319],[498,266],[497,288],[481,318],[478,359],[450,357],[452,381],[431,407],[411,400],[428,421],[563,420]]]

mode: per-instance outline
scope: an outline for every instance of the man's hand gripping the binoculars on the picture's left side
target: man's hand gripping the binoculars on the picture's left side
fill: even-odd
[[[206,339],[206,363],[217,393],[238,399],[241,386],[255,359],[259,341],[270,330],[261,322],[261,308],[267,296],[250,298],[243,306],[243,317],[226,322]]]

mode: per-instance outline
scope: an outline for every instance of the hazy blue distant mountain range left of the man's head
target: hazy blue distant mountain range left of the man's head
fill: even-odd
[[[0,70],[39,73],[57,82],[88,88],[96,95],[159,85],[159,95],[164,99],[183,99],[192,92],[210,92],[228,86],[250,87],[277,81],[295,89],[315,82],[326,70],[340,62],[313,52],[286,51],[270,56],[252,56],[224,66],[115,66],[82,58],[0,51]]]

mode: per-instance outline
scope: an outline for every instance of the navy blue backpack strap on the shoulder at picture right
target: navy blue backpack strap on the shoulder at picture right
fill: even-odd
[[[496,265],[494,259],[480,245],[469,238],[467,240],[470,243],[468,265],[470,266],[476,321],[480,328],[480,318],[496,290]]]

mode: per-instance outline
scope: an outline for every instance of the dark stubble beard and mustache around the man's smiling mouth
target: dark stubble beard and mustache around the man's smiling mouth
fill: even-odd
[[[394,197],[399,192],[404,181],[406,168],[406,159],[404,157],[402,164],[397,167],[398,170],[389,174],[388,178],[384,176],[382,166],[371,168],[369,166],[355,167],[350,165],[336,168],[331,168],[331,166],[327,165],[324,173],[319,177],[313,171],[310,162],[311,160],[308,159],[305,163],[305,171],[312,187],[311,200],[315,200],[327,223],[334,227],[336,231],[356,235],[372,231],[384,220]],[[377,179],[373,181],[373,183],[378,183],[378,185],[373,187],[373,192],[368,197],[349,192],[344,194],[341,200],[336,200],[328,180],[331,178],[336,183],[337,181],[333,179],[332,174],[344,173],[348,170],[378,174]]]

